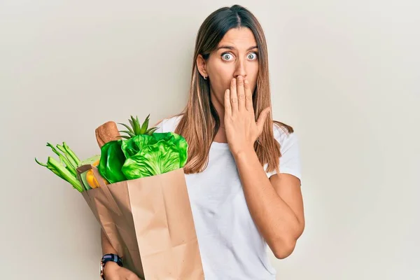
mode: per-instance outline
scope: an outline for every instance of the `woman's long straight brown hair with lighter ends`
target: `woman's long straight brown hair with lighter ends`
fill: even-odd
[[[174,132],[182,135],[188,142],[188,162],[184,167],[186,174],[202,172],[207,167],[211,143],[220,127],[220,118],[210,99],[209,80],[204,80],[200,75],[197,69],[197,57],[201,54],[204,59],[208,59],[223,36],[230,29],[238,27],[251,29],[258,45],[259,71],[257,86],[253,92],[255,120],[263,109],[271,107],[267,44],[260,23],[249,10],[239,5],[214,11],[204,20],[198,31],[188,103],[185,109],[176,115],[182,118]],[[254,144],[261,165],[268,163],[267,172],[274,169],[279,172],[281,156],[279,142],[274,139],[273,123],[288,133],[293,132],[292,127],[272,120],[271,113],[269,114],[262,134]]]

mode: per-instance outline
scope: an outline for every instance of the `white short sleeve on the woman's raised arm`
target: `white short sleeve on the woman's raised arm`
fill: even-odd
[[[281,157],[279,158],[280,173],[290,174],[302,181],[300,165],[300,149],[296,133],[286,133],[281,128],[274,126],[274,138],[280,144]],[[267,167],[267,165],[266,165]],[[265,167],[265,168],[266,168]],[[270,177],[276,174],[276,170],[267,172]]]

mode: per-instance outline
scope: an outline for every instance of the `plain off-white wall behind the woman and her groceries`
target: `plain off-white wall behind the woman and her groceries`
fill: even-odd
[[[1,279],[98,279],[99,227],[34,158],[187,100],[195,35],[231,1],[0,1]],[[278,279],[420,279],[419,1],[241,1],[273,113],[300,138],[307,226]],[[221,279],[224,280],[224,279]]]

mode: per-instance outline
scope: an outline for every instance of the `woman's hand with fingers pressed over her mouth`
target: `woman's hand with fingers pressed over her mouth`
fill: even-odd
[[[225,91],[225,130],[233,155],[254,150],[254,143],[260,137],[269,110],[269,107],[264,109],[255,122],[248,80],[242,76],[231,80],[230,89]]]

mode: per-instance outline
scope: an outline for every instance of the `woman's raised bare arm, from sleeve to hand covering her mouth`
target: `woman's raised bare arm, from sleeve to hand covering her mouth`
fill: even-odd
[[[225,91],[226,138],[253,221],[276,258],[286,258],[304,230],[300,180],[290,174],[267,178],[254,144],[264,130],[270,108],[262,110],[255,122],[252,97],[248,80],[242,76],[231,80],[230,89]]]

